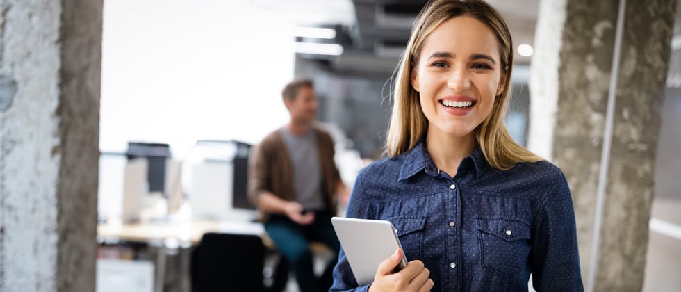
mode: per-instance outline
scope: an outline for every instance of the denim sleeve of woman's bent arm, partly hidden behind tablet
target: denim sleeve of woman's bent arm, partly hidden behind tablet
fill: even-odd
[[[364,170],[359,172],[352,188],[350,202],[347,204],[347,213],[345,214],[348,218],[368,218],[368,200],[363,186],[364,172]],[[343,252],[341,247],[341,252],[338,254],[338,263],[336,263],[334,268],[334,284],[329,289],[329,292],[367,291],[369,286],[370,284],[364,286],[357,284],[350,269],[350,263],[347,262],[345,252]]]

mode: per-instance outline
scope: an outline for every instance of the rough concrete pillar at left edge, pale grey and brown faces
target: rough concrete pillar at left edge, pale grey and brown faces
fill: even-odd
[[[95,291],[101,0],[0,0],[0,291]]]

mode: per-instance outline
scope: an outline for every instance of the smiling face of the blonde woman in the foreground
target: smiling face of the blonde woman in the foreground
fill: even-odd
[[[440,24],[422,44],[411,72],[428,133],[472,135],[504,90],[501,66],[499,44],[488,26],[468,16]]]

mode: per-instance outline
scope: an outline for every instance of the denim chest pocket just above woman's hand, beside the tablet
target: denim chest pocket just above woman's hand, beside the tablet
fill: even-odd
[[[407,261],[421,259],[423,254],[423,228],[426,218],[390,218]]]

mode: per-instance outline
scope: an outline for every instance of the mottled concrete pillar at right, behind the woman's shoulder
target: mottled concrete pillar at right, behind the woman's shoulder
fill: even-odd
[[[619,44],[619,6],[617,0],[542,0],[534,38],[529,147],[568,178],[582,277],[591,291],[641,291],[676,7],[675,0],[626,0]],[[599,189],[605,190],[600,211]],[[600,232],[593,236],[594,230]]]

